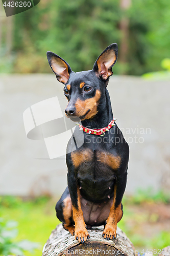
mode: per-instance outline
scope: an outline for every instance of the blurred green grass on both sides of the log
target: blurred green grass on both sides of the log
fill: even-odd
[[[148,193],[147,193],[148,194]],[[123,200],[124,217],[118,223],[118,226],[127,234],[136,249],[139,252],[142,249],[162,249],[169,245],[170,231],[160,230],[158,233],[152,233],[151,236],[145,236],[141,233],[142,225],[150,225],[151,230],[158,221],[156,215],[149,216],[147,212],[142,212],[142,203],[146,200],[146,193],[140,191],[135,197]],[[148,194],[151,195],[151,194]],[[147,199],[147,202],[168,203],[169,199],[162,193]],[[22,200],[17,197],[0,197],[0,216],[6,221],[14,220],[18,222],[18,236],[15,241],[30,240],[39,243],[39,248],[34,252],[26,251],[26,256],[41,255],[43,245],[51,234],[51,231],[59,224],[56,218],[55,204],[57,199],[41,197],[34,200]],[[134,206],[138,207],[134,211]],[[152,226],[153,225],[153,226]]]

